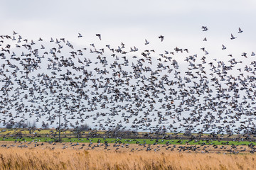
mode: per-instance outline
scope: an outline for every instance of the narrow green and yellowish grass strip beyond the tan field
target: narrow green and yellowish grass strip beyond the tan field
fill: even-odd
[[[94,132],[94,137],[91,137],[90,134],[92,131],[84,131],[80,132],[80,137],[77,137],[75,130],[65,130],[60,133],[62,142],[92,142],[92,143],[125,143],[125,144],[150,144],[150,145],[256,145],[256,142],[252,142],[252,140],[230,140],[229,138],[225,138],[227,135],[219,135],[226,140],[198,140],[198,138],[191,140],[186,137],[183,139],[183,134],[176,134],[177,139],[161,139],[162,136],[146,136],[143,132],[138,132],[135,136],[136,138],[125,138],[122,139],[120,137],[109,137],[105,135],[103,131]],[[174,135],[171,133],[166,133],[167,135]],[[107,138],[103,138],[101,136],[107,136]],[[196,136],[196,134],[194,134]],[[100,136],[100,137],[97,137]],[[203,137],[207,139],[209,134],[203,134]],[[238,138],[242,135],[234,135],[234,137]],[[156,138],[159,140],[156,140]],[[228,140],[227,140],[228,139]],[[240,138],[241,139],[241,138]],[[33,130],[31,133],[27,129],[0,129],[0,141],[27,141],[27,142],[55,142],[58,140],[58,132],[56,130]]]

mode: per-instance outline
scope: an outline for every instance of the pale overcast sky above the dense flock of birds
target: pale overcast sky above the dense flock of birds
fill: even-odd
[[[65,37],[88,45],[100,33],[105,44],[139,46],[147,39],[156,49],[186,47],[192,55],[208,45],[211,54],[219,57],[222,44],[232,52],[240,49],[239,54],[256,48],[253,0],[1,0],[0,15],[1,35],[15,30],[28,39]],[[209,30],[202,32],[201,26]],[[239,27],[244,30],[242,35],[238,35]],[[78,40],[78,33],[83,35],[82,40]],[[230,33],[239,40],[230,41]],[[164,43],[160,43],[159,35],[164,35]],[[203,44],[204,37],[208,44]]]

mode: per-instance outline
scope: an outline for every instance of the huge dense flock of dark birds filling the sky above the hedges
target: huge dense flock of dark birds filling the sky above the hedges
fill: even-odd
[[[156,40],[164,43],[164,35]],[[35,120],[38,127],[56,127],[60,116],[61,128],[88,123],[99,130],[255,133],[255,52],[223,62],[208,57],[206,47],[198,54],[186,47],[156,54],[149,44],[75,47],[65,38],[0,35],[1,126]],[[178,62],[181,54],[186,57]]]

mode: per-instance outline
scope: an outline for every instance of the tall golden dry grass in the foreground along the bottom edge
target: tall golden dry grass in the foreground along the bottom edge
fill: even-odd
[[[0,148],[0,169],[256,169],[256,155]]]

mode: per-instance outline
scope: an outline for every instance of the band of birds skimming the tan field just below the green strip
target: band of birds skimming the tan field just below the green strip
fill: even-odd
[[[164,140],[156,140],[154,144],[146,144],[146,142],[137,142],[136,144],[129,144],[132,140],[127,140],[125,142],[120,142],[119,140],[98,141],[97,143],[92,143],[92,140],[88,143],[80,142],[41,142],[33,140],[32,142],[25,141],[15,141],[14,143],[2,144],[1,147],[4,148],[41,148],[41,149],[85,149],[85,150],[105,150],[105,151],[127,151],[129,152],[196,152],[196,153],[223,153],[223,154],[239,154],[239,153],[251,153],[256,152],[256,147],[253,144],[249,145],[206,145],[202,143],[201,145],[184,145],[177,144],[171,145],[168,141],[163,145],[158,145],[159,142],[164,142]]]

